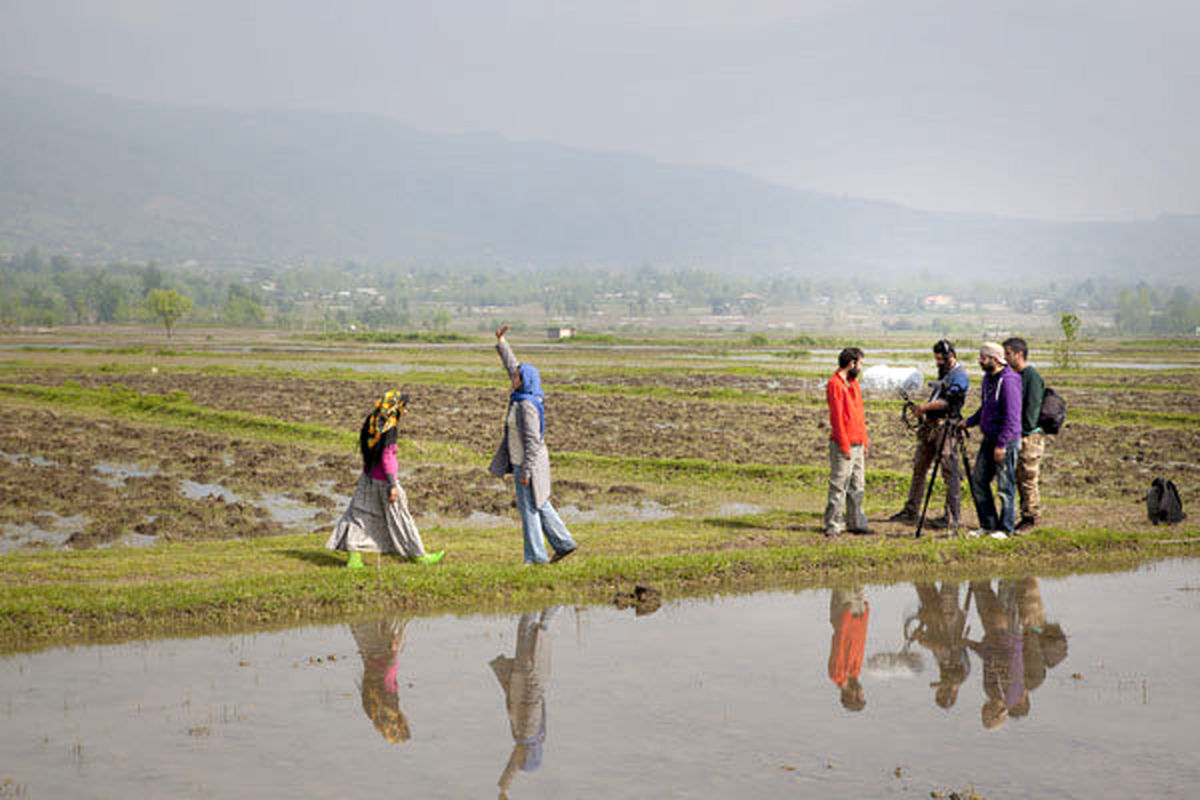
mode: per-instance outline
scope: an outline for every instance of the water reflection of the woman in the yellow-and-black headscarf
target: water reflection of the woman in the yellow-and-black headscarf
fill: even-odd
[[[400,710],[400,654],[408,620],[380,619],[350,625],[362,656],[362,710],[384,739],[408,741],[408,720]]]

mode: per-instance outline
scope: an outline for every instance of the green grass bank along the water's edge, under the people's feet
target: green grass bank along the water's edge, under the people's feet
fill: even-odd
[[[653,525],[642,529],[643,537],[654,539]],[[671,597],[847,579],[1115,569],[1194,554],[1200,531],[1180,539],[1184,533],[1043,530],[1006,541],[847,537],[830,542],[814,536],[778,547],[701,552],[689,552],[685,540],[668,537],[655,554],[617,554],[612,548],[589,554],[589,537],[598,534],[583,530],[584,552],[542,569],[521,567],[516,533],[496,546],[500,549],[470,557],[455,549],[451,530],[431,531],[451,552],[434,567],[391,559],[377,566],[368,558],[367,569],[348,571],[342,557],[324,551],[313,536],[19,553],[0,557],[0,652],[67,642],[311,624],[370,612],[479,612],[551,601],[605,602],[614,590],[629,590],[635,583],[654,585]]]

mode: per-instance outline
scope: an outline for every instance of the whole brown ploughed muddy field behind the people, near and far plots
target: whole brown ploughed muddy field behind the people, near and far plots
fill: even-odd
[[[479,367],[494,357],[481,351]],[[638,356],[644,361],[646,355]],[[602,351],[559,354],[545,371],[547,440],[551,452],[601,456],[702,458],[746,464],[823,467],[828,441],[824,392],[810,372],[756,375],[700,368],[661,374],[611,367]],[[185,392],[196,404],[247,411],[293,422],[354,432],[362,414],[389,383],[353,379],[280,378],[264,374],[204,374],[169,366],[104,372],[96,363],[0,371],[8,384],[83,387],[122,385],[139,392]],[[460,363],[461,366],[461,363]],[[978,385],[978,375],[972,380]],[[479,453],[479,464],[406,467],[403,482],[419,515],[468,519],[512,518],[509,487],[486,473],[500,434],[508,387],[496,368],[494,387],[401,384],[413,395],[404,433],[416,441],[454,443]],[[1055,377],[1048,374],[1048,383]],[[571,387],[556,393],[556,386]],[[660,386],[670,397],[622,393]],[[1200,413],[1200,373],[1126,374],[1120,371],[1064,377],[1061,386],[1075,419],[1049,449],[1043,494],[1063,500],[1069,515],[1136,516],[1154,475],[1171,475],[1189,488],[1200,477],[1200,426],[1117,423],[1111,411]],[[738,401],[712,392],[755,392]],[[689,397],[694,393],[695,397]],[[869,398],[870,467],[906,473],[912,433],[900,422],[900,402]],[[967,410],[973,410],[973,397]],[[328,529],[353,492],[354,452],[314,455],[302,447],[239,440],[178,428],[120,421],[78,422],[53,408],[5,407],[0,421],[0,523],[25,545],[90,546],[131,535],[166,540],[254,536],[283,530]],[[974,447],[971,449],[972,459]],[[653,499],[654,487],[560,477],[557,503],[577,509]],[[1120,509],[1112,503],[1120,503]],[[1092,509],[1106,511],[1093,513]],[[1060,518],[1057,524],[1082,524]],[[1088,519],[1096,524],[1096,519]],[[37,533],[40,531],[40,533]],[[42,535],[49,534],[49,535]]]

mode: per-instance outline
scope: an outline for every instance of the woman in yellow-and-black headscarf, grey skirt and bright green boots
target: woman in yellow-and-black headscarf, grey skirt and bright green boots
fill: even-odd
[[[362,553],[398,553],[421,564],[437,564],[445,551],[426,554],[408,497],[398,481],[396,437],[400,417],[408,414],[408,395],[389,391],[362,420],[359,450],[362,475],[346,513],[325,547],[348,551],[348,567],[362,566]]]

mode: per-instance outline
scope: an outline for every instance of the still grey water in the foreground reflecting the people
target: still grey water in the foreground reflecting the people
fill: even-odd
[[[1186,560],[65,648],[0,658],[0,786],[1190,796],[1198,622],[1200,561]]]

